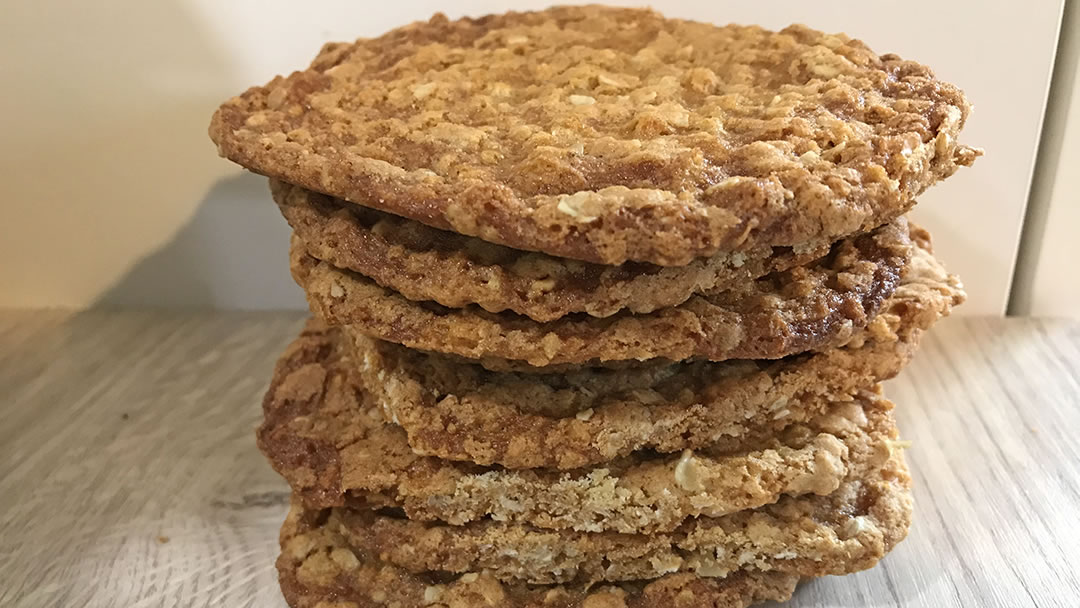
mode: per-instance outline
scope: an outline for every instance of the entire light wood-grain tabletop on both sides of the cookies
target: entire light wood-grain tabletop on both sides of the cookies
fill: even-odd
[[[0,312],[0,606],[283,607],[253,429],[301,323]],[[912,533],[788,606],[1080,606],[1080,324],[946,320],[888,390]]]

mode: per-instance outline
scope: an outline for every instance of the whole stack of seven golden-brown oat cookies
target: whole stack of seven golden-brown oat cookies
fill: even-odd
[[[875,565],[912,517],[879,382],[963,299],[905,213],[969,111],[846,36],[602,6],[227,102],[314,314],[258,431],[288,603],[742,607]]]

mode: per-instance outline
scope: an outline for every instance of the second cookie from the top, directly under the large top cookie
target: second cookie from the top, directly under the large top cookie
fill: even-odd
[[[410,300],[476,305],[534,321],[575,312],[610,316],[677,306],[697,293],[753,281],[824,255],[832,244],[760,246],[687,266],[604,266],[512,249],[278,180],[273,198],[312,257],[353,270]]]

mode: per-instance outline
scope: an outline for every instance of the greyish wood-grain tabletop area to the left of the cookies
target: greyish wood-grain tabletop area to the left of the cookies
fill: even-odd
[[[4,384],[0,606],[282,604],[287,489],[252,430],[298,320],[89,313],[41,329],[3,371],[39,375]]]

